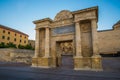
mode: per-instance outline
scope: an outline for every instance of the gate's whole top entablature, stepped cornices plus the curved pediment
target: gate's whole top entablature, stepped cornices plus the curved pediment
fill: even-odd
[[[82,20],[96,19],[98,21],[97,8],[98,7],[93,7],[93,8],[83,9],[74,12],[63,10],[56,15],[54,20],[51,20],[50,18],[45,18],[45,19],[33,21],[33,23],[36,24],[36,28],[43,26],[44,27],[52,26],[51,28],[53,28],[53,27],[71,25],[74,24],[74,22],[82,21]],[[73,20],[73,16],[75,17],[74,20]]]

